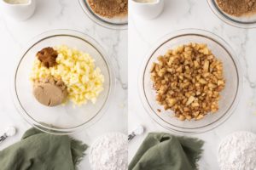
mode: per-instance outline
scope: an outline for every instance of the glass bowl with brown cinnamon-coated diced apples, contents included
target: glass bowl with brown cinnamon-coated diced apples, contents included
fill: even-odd
[[[149,116],[180,133],[206,132],[225,122],[236,108],[241,84],[241,66],[229,44],[196,29],[163,37],[139,77]]]

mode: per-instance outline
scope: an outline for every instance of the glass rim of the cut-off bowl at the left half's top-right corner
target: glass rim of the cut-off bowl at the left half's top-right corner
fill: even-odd
[[[84,13],[90,18],[90,20],[92,20],[97,25],[103,26],[105,28],[112,29],[112,30],[127,30],[128,21],[122,24],[115,24],[112,22],[108,22],[106,20],[102,20],[90,9],[87,3],[87,0],[79,0],[79,4],[83,9]],[[127,18],[128,18],[128,14],[127,14]]]

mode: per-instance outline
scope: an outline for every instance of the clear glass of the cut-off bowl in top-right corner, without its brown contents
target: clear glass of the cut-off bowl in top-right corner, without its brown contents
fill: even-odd
[[[207,0],[210,8],[219,19],[224,20],[231,26],[240,28],[255,28],[256,27],[256,14],[250,16],[236,17],[230,14],[226,14],[221,8],[218,7],[216,0]]]

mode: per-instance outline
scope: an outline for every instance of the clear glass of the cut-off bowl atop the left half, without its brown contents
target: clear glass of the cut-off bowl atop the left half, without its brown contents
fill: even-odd
[[[79,0],[81,7],[83,8],[85,14],[88,15],[90,20],[93,20],[96,24],[114,30],[125,30],[128,26],[128,14],[124,17],[115,17],[109,19],[107,17],[102,17],[96,14],[91,8],[88,0]]]

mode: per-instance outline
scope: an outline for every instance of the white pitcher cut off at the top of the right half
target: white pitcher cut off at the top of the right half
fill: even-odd
[[[151,3],[140,3],[139,0],[131,0],[131,10],[138,17],[145,20],[153,20],[163,11],[164,0],[155,0]]]

